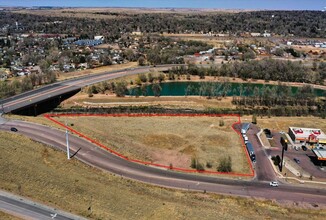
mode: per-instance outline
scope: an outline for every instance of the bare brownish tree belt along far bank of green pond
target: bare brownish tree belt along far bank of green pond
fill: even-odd
[[[169,74],[205,76],[227,76],[233,78],[262,79],[265,81],[301,82],[324,84],[326,80],[326,62],[310,68],[300,61],[284,61],[275,59],[249,60],[245,62],[223,63],[221,66],[203,68],[194,64],[187,67],[173,67]]]

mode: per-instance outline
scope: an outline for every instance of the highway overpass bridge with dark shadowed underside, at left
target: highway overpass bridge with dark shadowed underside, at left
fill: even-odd
[[[56,82],[50,85],[42,86],[10,98],[0,100],[0,112],[19,112],[26,110],[29,115],[37,115],[37,109],[42,106],[45,109],[53,109],[67,97],[70,97],[80,91],[81,88],[92,85],[105,80],[115,79],[123,76],[146,73],[151,70],[166,71],[169,68],[178,65],[161,65],[156,67],[144,66],[137,68],[129,68],[117,71],[104,72],[100,74],[92,74],[74,79]]]

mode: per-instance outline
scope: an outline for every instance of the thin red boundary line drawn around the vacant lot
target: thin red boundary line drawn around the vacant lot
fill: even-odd
[[[162,164],[156,164],[156,163],[152,163],[152,162],[148,162],[148,161],[142,161],[142,160],[137,160],[137,159],[132,159],[132,158],[128,158],[126,156],[124,156],[123,154],[112,150],[111,148],[101,144],[98,141],[95,141],[92,138],[87,137],[86,135],[72,129],[71,127],[66,126],[65,124],[57,121],[54,119],[54,117],[164,117],[164,116],[170,116],[170,117],[237,117],[238,121],[234,122],[232,124],[232,129],[233,131],[235,131],[238,135],[239,138],[242,142],[242,148],[247,156],[247,162],[249,164],[250,167],[250,173],[235,173],[235,172],[218,172],[218,171],[208,171],[208,170],[204,170],[204,171],[198,171],[195,169],[185,169],[185,168],[178,168],[178,167],[170,167],[170,166],[166,166],[166,165],[162,165]],[[248,177],[253,177],[255,175],[254,173],[254,169],[252,167],[251,164],[251,159],[250,156],[248,154],[248,151],[246,149],[244,140],[242,138],[242,135],[239,131],[237,131],[234,128],[234,125],[237,124],[241,124],[241,120],[240,120],[240,115],[239,114],[164,114],[164,113],[125,113],[125,114],[45,114],[44,115],[45,118],[47,118],[48,120],[60,125],[61,127],[68,129],[69,131],[71,131],[72,133],[77,134],[78,136],[90,141],[91,143],[99,146],[100,148],[124,159],[130,162],[134,162],[134,163],[139,163],[139,164],[143,164],[143,165],[150,165],[150,166],[154,166],[154,167],[160,167],[160,168],[166,168],[168,170],[175,170],[175,171],[181,171],[181,172],[186,172],[186,173],[207,173],[207,174],[223,174],[223,175],[231,175],[231,176],[248,176]]]

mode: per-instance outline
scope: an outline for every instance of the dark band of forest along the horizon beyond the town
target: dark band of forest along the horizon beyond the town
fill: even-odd
[[[78,13],[65,11],[65,14]],[[253,11],[239,13],[116,13],[94,12],[94,15],[108,15],[107,18],[63,19],[60,16],[40,16],[3,11],[1,24],[15,24],[20,21],[22,28],[15,25],[9,32],[30,31],[43,33],[79,34],[92,37],[102,34],[110,41],[123,33],[138,28],[144,33],[209,33],[223,32],[240,35],[244,32],[264,33],[266,30],[278,35],[301,37],[324,37],[326,35],[326,13],[322,11]],[[167,16],[168,15],[168,16]],[[62,21],[55,23],[54,21]]]

